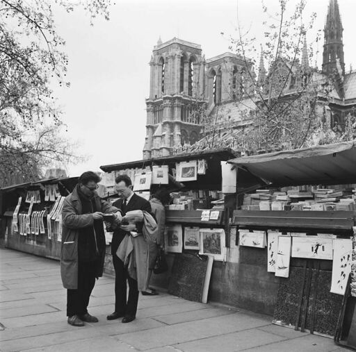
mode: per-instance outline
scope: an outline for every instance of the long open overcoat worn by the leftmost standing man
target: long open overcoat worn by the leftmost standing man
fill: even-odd
[[[94,226],[92,214],[82,214],[81,201],[76,186],[65,198],[62,210],[63,230],[60,251],[60,276],[63,287],[70,290],[78,288],[78,237],[79,229]],[[104,213],[117,212],[118,208],[103,201],[95,192],[95,204],[98,211]],[[105,246],[103,246],[105,248]],[[102,276],[104,270],[105,251],[96,268],[96,277]]]

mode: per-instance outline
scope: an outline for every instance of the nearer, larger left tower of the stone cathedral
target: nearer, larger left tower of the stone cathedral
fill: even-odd
[[[173,38],[154,47],[143,158],[168,156],[199,139],[194,106],[204,102],[205,60],[199,44]]]

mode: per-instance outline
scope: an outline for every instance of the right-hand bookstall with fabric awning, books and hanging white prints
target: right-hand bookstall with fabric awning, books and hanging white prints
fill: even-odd
[[[238,305],[248,305],[253,296],[255,310],[265,303],[267,309],[259,311],[273,314],[275,324],[329,336],[339,328],[351,339],[356,334],[356,142],[235,158],[229,164],[238,175],[259,178],[253,186],[237,176]],[[245,283],[254,287],[248,284],[246,290]]]

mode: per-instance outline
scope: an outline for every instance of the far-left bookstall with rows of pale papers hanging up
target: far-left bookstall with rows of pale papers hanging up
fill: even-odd
[[[0,190],[1,240],[10,249],[60,258],[61,208],[78,178],[52,178]]]

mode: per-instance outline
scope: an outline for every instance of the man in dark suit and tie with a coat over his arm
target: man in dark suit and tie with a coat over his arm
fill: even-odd
[[[149,201],[136,195],[132,191],[131,178],[127,175],[120,175],[115,178],[115,191],[120,196],[113,206],[120,209],[122,216],[131,210],[145,210],[151,212]],[[106,319],[113,320],[123,317],[122,323],[129,323],[136,318],[138,303],[137,281],[129,276],[127,267],[116,255],[120,243],[128,232],[135,231],[142,233],[142,223],[124,224],[114,229],[113,240],[111,241],[111,254],[113,255],[113,265],[115,269],[115,312],[108,315]],[[127,299],[127,281],[129,282],[129,297]]]

